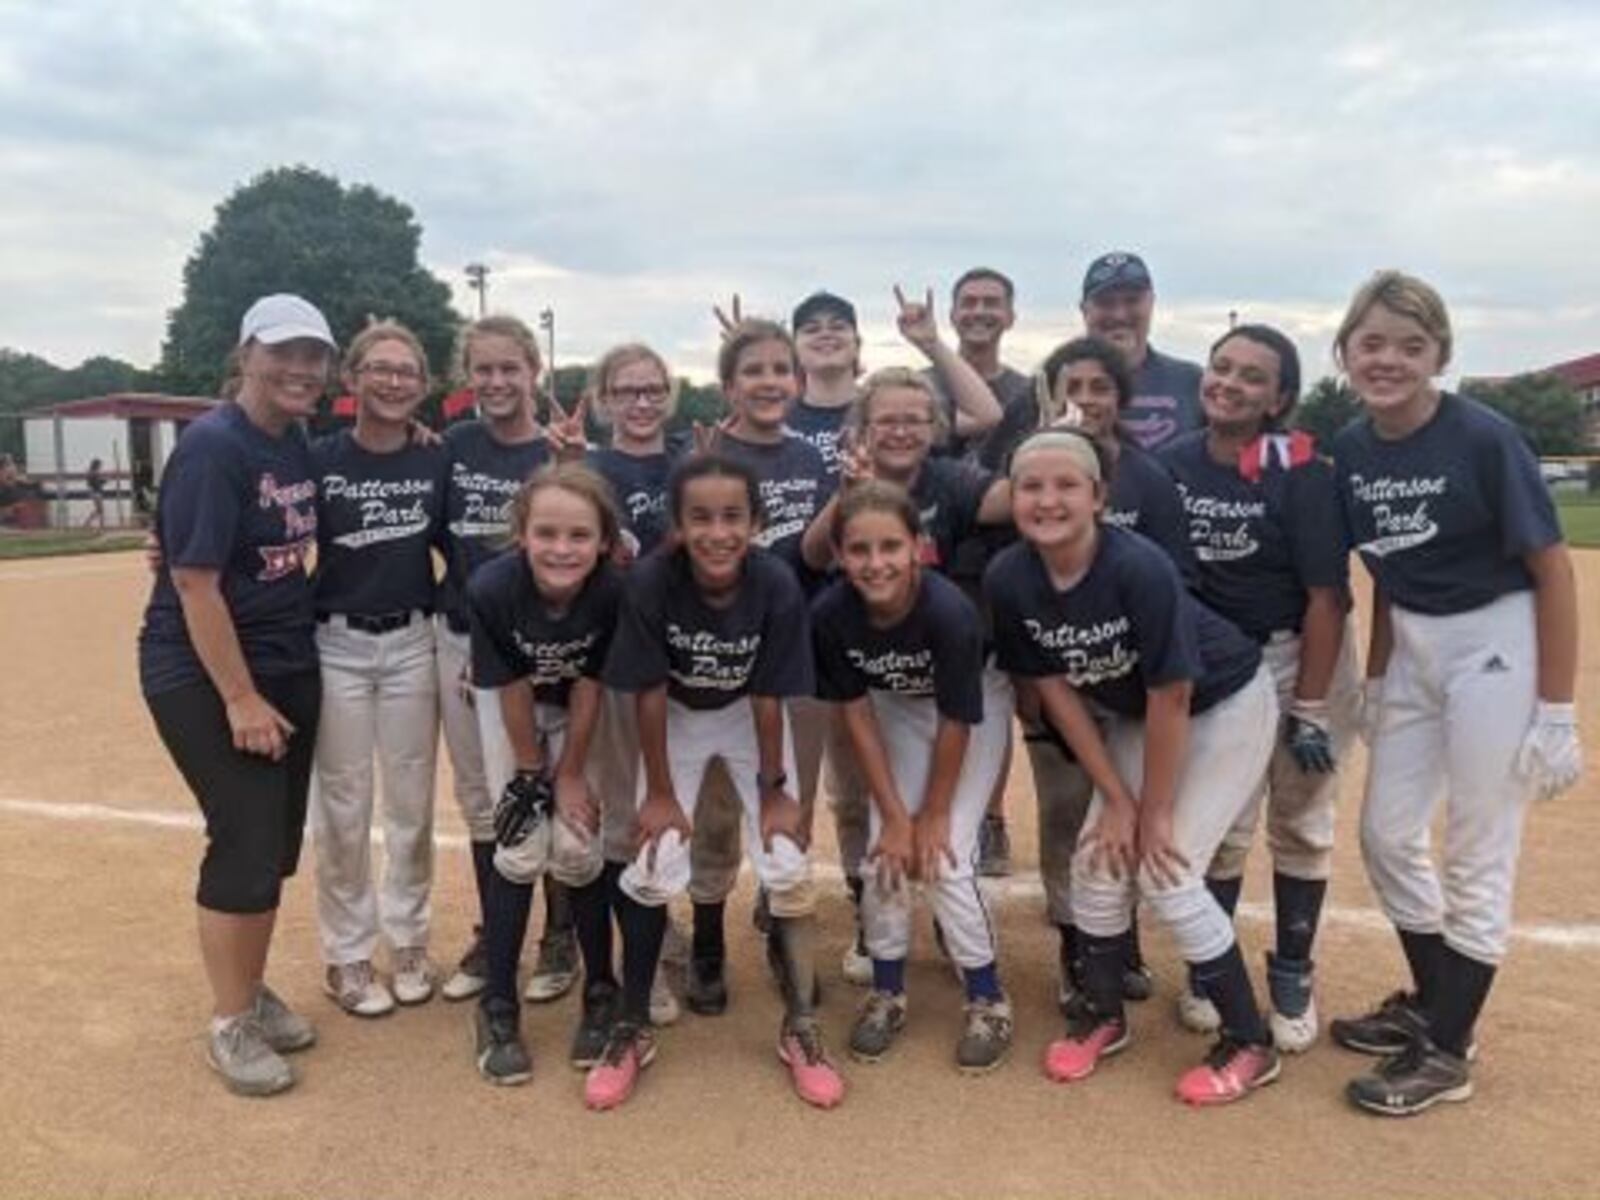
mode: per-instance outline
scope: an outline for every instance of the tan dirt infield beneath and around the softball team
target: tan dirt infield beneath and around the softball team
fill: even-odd
[[[1581,605],[1600,611],[1600,552],[1579,555]],[[1157,997],[1134,1045],[1094,1078],[1048,1083],[1058,1032],[1054,934],[1030,867],[1026,765],[1013,774],[1021,874],[997,896],[1002,970],[1018,1008],[1011,1061],[984,1078],[952,1066],[960,989],[923,938],[912,1022],[894,1058],[846,1062],[838,1112],[805,1109],[773,1056],[778,998],[749,931],[749,885],[730,906],[733,1006],[666,1030],[640,1094],[594,1115],[565,1064],[576,998],[526,1010],[534,1082],[483,1085],[469,1011],[434,1002],[362,1022],[320,994],[309,858],[290,886],[270,978],[317,1021],[301,1085],[272,1101],[227,1096],[203,1066],[206,992],[192,933],[200,834],[139,701],[138,557],[0,566],[0,1195],[1595,1195],[1589,1085],[1600,982],[1600,771],[1538,808],[1517,936],[1480,1027],[1477,1098],[1414,1122],[1346,1107],[1363,1061],[1326,1043],[1288,1061],[1246,1104],[1190,1112],[1171,1099],[1203,1043],[1171,1013],[1178,965],[1150,930]],[[1579,675],[1600,762],[1600,630]],[[1325,1016],[1400,979],[1355,851],[1362,763],[1347,773],[1341,848],[1320,942]],[[467,933],[467,864],[442,778],[435,952]],[[829,861],[830,846],[819,861]],[[1246,906],[1267,898],[1262,854]],[[824,1018],[842,1046],[858,994],[838,978],[848,907],[822,907]],[[1267,931],[1242,925],[1261,979]],[[923,930],[925,933],[925,930]],[[1590,1115],[1586,1115],[1590,1114]]]

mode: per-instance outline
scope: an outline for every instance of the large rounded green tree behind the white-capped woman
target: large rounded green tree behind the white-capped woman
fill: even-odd
[[[238,318],[274,291],[317,304],[341,346],[368,317],[403,322],[445,378],[461,317],[450,288],[418,264],[421,237],[406,205],[366,184],[346,187],[309,166],[256,176],[218,205],[184,264],[184,299],[162,346],[166,387],[214,394]]]

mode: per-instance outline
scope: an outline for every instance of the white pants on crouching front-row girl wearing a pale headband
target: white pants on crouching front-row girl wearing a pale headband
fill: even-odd
[[[1173,842],[1189,859],[1178,883],[1160,883],[1142,867],[1133,878],[1114,878],[1104,867],[1091,867],[1083,845],[1072,859],[1074,923],[1093,938],[1115,938],[1128,931],[1134,899],[1142,898],[1171,930],[1186,962],[1226,954],[1234,944],[1234,922],[1206,890],[1205,869],[1251,803],[1277,733],[1278,699],[1272,672],[1262,664],[1250,683],[1189,722],[1189,752],[1173,802]],[[1117,773],[1138,797],[1144,782],[1144,722],[1112,717],[1106,741]],[[1094,827],[1102,806],[1096,792],[1085,832]]]

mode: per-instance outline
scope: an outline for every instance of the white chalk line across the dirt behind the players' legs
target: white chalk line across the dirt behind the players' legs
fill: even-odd
[[[160,808],[114,808],[110,805],[91,803],[51,803],[45,800],[22,800],[16,797],[0,797],[0,813],[18,816],[37,816],[50,821],[78,821],[90,824],[125,824],[144,826],[149,829],[182,829],[200,832],[205,827],[198,813]],[[373,832],[373,842],[381,845],[379,835]],[[462,850],[467,838],[462,834],[434,834],[434,843],[446,850]],[[749,864],[744,866],[749,870]],[[813,870],[818,878],[838,882],[843,872],[832,862],[818,862]],[[1045,896],[1045,886],[1037,870],[1019,870],[1006,878],[982,880],[984,893],[992,901],[1032,901],[1038,902]],[[1270,904],[1240,904],[1238,915],[1246,922],[1272,920]],[[1342,925],[1363,933],[1387,933],[1389,918],[1378,909],[1355,909],[1331,904],[1323,909],[1323,922]],[[1563,950],[1600,950],[1600,925],[1581,922],[1534,922],[1514,925],[1510,936],[1514,941],[1533,946],[1552,946]]]

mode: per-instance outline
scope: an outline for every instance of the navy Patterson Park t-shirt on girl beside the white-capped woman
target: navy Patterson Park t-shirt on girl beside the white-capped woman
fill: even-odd
[[[349,429],[310,448],[317,467],[318,613],[397,613],[434,606],[432,546],[442,541],[443,446],[363,450]]]

